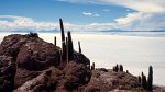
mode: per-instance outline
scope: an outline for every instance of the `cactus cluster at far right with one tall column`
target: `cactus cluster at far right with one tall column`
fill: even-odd
[[[145,90],[147,90],[150,92],[153,91],[153,67],[152,66],[148,67],[147,80],[146,80],[146,77],[144,76],[144,73],[142,72],[142,77],[141,78],[139,77],[139,81]]]

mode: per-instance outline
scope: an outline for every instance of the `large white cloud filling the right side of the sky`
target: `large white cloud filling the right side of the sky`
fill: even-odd
[[[136,12],[128,12],[127,16],[114,19],[113,26],[121,30],[165,30],[165,3],[163,0],[67,0],[67,2],[73,1],[74,3],[119,5],[135,10]]]

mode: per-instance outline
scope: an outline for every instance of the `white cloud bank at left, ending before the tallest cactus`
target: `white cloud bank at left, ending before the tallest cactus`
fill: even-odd
[[[3,20],[2,20],[3,19]],[[11,21],[8,21],[8,20]],[[31,18],[15,15],[0,15],[0,31],[50,31],[54,30],[57,24],[48,22],[35,22]]]

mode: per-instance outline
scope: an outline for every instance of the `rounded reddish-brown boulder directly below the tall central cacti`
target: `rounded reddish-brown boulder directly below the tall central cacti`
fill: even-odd
[[[65,88],[68,90],[77,89],[87,84],[90,80],[91,73],[87,69],[87,65],[69,61],[65,69]]]

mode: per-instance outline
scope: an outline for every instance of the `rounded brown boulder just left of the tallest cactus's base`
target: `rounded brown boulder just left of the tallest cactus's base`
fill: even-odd
[[[28,70],[45,70],[59,65],[59,48],[40,38],[29,41],[21,47],[16,62]]]

